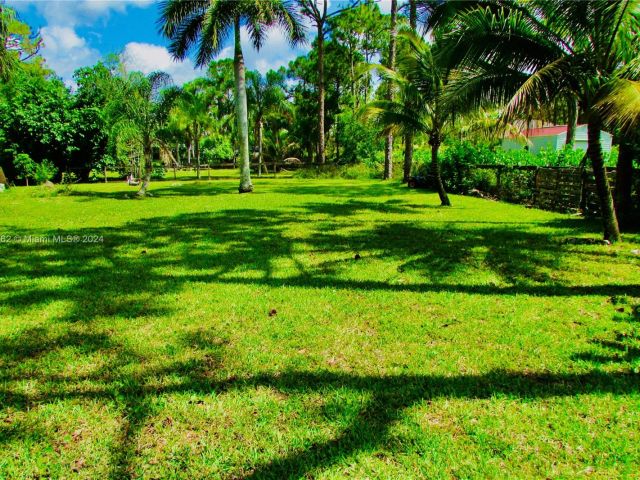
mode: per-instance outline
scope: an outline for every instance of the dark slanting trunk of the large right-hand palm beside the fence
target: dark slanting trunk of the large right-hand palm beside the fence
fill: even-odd
[[[591,159],[591,167],[596,180],[596,190],[600,200],[600,213],[602,215],[602,224],[604,228],[604,239],[610,242],[620,240],[620,229],[618,227],[618,219],[613,206],[613,198],[611,197],[611,188],[609,187],[609,179],[607,178],[606,169],[604,167],[604,159],[602,158],[602,148],[600,146],[600,119],[591,116],[587,126],[587,135],[589,138],[589,146],[587,154]]]

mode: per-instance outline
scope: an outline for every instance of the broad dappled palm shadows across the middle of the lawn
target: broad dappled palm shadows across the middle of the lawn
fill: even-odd
[[[32,308],[66,302],[69,307],[61,319],[71,321],[164,315],[169,312],[157,299],[189,282],[471,295],[640,296],[640,284],[575,285],[556,279],[554,272],[576,254],[576,247],[554,237],[553,222],[552,228],[542,230],[453,221],[363,224],[357,217],[367,212],[402,214],[406,207],[352,200],[278,211],[235,209],[154,217],[82,232],[9,232],[47,238],[81,234],[104,238],[104,243],[0,244],[5,304]],[[292,234],[299,222],[318,214],[328,219],[305,227],[308,235]],[[386,278],[345,277],[345,272],[357,271],[358,252],[365,265],[377,259],[391,261],[412,280],[397,284]],[[301,255],[319,260],[304,263]],[[324,255],[330,259],[320,261]],[[579,255],[626,261],[604,247],[583,249]],[[286,277],[274,270],[282,260],[295,264]],[[496,280],[474,283],[473,277],[459,275],[478,269]],[[255,274],[246,275],[247,270]]]

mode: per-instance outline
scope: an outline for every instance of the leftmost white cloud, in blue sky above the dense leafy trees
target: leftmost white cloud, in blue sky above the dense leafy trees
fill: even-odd
[[[44,27],[41,35],[44,42],[42,55],[47,66],[67,83],[71,82],[73,72],[78,67],[91,65],[100,59],[100,52],[91,48],[72,28]]]

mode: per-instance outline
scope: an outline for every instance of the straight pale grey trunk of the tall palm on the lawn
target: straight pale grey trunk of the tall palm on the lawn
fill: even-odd
[[[235,20],[235,56],[233,68],[236,81],[236,121],[240,146],[240,193],[253,191],[251,164],[249,163],[249,115],[247,111],[247,85],[245,82],[244,57],[240,43],[240,17]]]

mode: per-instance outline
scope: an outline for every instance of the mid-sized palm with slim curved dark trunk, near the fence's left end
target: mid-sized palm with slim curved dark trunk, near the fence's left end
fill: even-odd
[[[369,103],[363,115],[375,120],[386,132],[413,137],[422,132],[431,146],[431,175],[442,206],[450,206],[449,196],[440,175],[438,152],[445,135],[453,127],[455,109],[445,101],[447,69],[438,63],[438,56],[426,41],[411,31],[400,34],[409,48],[400,53],[396,71],[377,66],[383,78],[398,89],[395,100]]]

